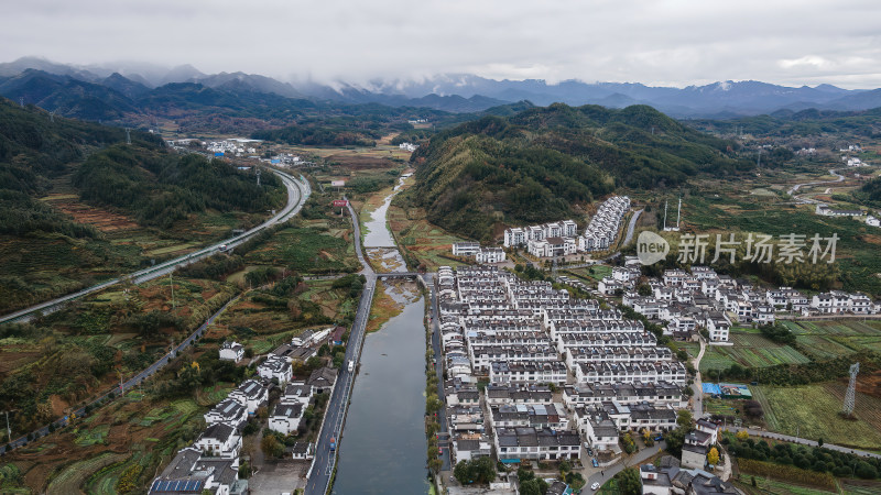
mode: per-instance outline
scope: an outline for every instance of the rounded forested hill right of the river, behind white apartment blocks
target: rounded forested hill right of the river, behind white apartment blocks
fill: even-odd
[[[558,220],[618,188],[731,175],[751,162],[733,143],[645,106],[531,108],[444,131],[413,154],[411,197],[428,219],[475,239],[501,224]]]

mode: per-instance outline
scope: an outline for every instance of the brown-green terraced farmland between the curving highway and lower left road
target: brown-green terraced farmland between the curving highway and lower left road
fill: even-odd
[[[168,278],[98,293],[28,324],[0,331],[0,402],[15,404],[17,431],[62,416],[69,407],[140,372],[166,352],[236,289],[204,279]],[[100,439],[81,439],[94,443]]]

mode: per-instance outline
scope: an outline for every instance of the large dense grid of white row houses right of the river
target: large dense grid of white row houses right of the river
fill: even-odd
[[[457,461],[580,459],[584,443],[610,460],[619,432],[675,427],[686,370],[640,321],[493,266],[440,267],[437,284]]]

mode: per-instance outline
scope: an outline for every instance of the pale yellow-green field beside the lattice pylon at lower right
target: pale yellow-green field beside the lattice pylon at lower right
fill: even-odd
[[[762,404],[771,431],[796,435],[827,443],[878,450],[881,447],[881,399],[857,393],[857,420],[838,415],[844,404],[845,383],[798,387],[750,386]]]

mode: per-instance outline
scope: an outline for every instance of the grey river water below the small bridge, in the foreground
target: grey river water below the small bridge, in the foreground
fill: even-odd
[[[414,286],[412,286],[414,287]],[[389,294],[395,299],[401,293]],[[428,492],[425,468],[425,315],[415,288],[403,311],[365,339],[339,450],[335,494]]]

